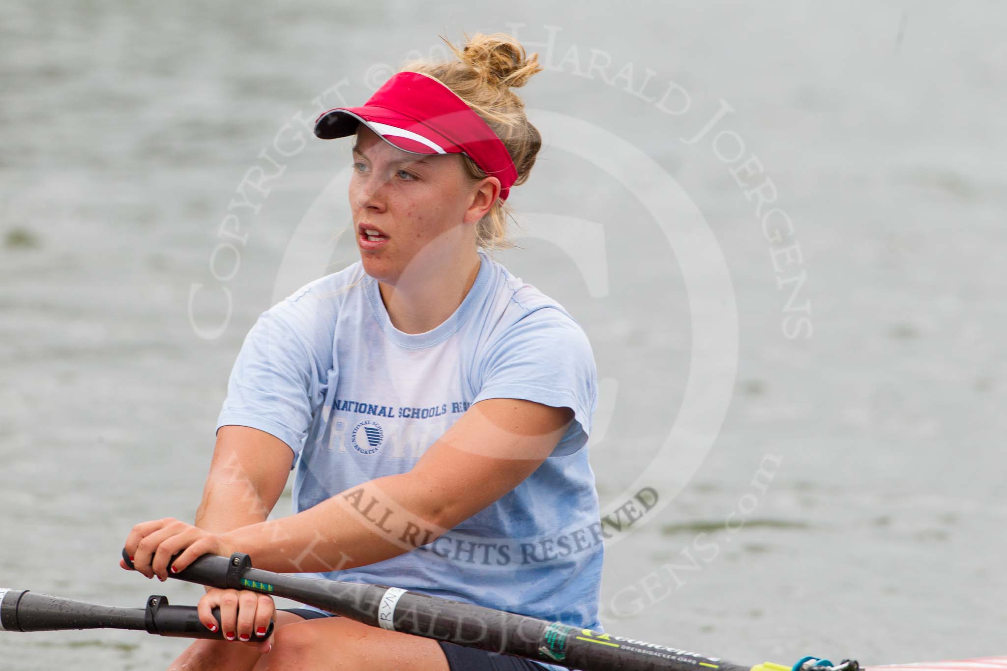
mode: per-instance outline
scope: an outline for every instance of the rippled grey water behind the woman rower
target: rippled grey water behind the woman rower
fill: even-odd
[[[462,30],[511,30],[551,58],[519,91],[530,109],[613,134],[657,165],[613,176],[547,137],[512,197],[517,216],[600,230],[600,246],[576,227],[547,239],[547,228],[499,255],[581,321],[609,380],[591,448],[606,505],[641,473],[659,491],[672,479],[649,465],[696,344],[669,243],[676,222],[655,221],[629,187],[680,185],[733,286],[693,297],[736,305],[736,374],[706,380],[730,392],[725,420],[688,485],[609,547],[608,631],[743,663],[1004,654],[1005,21],[995,2],[645,2],[611,13],[604,2],[7,0],[0,585],[195,603],[198,588],[123,572],[119,548],[137,522],[191,520],[247,329],[354,255],[335,238],[348,221],[339,202],[322,198],[331,234],[303,225],[348,164],[337,143],[308,141],[283,159],[268,195],[251,192],[258,213],[241,211],[237,257],[214,257],[235,242],[219,228],[236,188],[253,166],[273,172],[260,151],[295,115],[320,112],[312,101],[326,90],[344,80],[326,109],[361,104],[438,33],[457,43]],[[627,63],[631,76],[615,79]],[[671,81],[690,100],[678,115],[643,100]],[[722,101],[733,112],[717,130],[736,136],[687,143]],[[745,158],[729,163],[733,138]],[[794,222],[782,243],[763,235],[750,187],[730,172],[751,155]],[[795,243],[800,263],[790,249],[786,265],[780,249]],[[211,262],[227,277],[236,261],[233,278],[213,277]],[[784,320],[804,313],[785,312],[794,283],[778,283],[802,273],[790,307],[810,305],[811,329],[792,338]],[[229,316],[218,337],[193,328]],[[286,494],[278,513],[289,504]],[[0,668],[162,668],[182,645],[0,634]]]

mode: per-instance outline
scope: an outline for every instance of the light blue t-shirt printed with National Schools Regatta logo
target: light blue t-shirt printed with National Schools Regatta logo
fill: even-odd
[[[290,446],[297,513],[408,472],[479,400],[572,408],[553,454],[486,509],[405,554],[312,575],[600,630],[603,537],[586,448],[597,406],[591,346],[562,306],[479,259],[461,305],[426,333],[392,325],[359,263],[295,292],[249,332],[218,427],[252,427]]]

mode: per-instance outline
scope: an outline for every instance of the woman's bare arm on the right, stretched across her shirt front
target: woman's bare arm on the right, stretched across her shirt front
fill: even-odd
[[[520,485],[572,420],[568,407],[482,400],[408,473],[351,487],[296,515],[243,526],[221,541],[275,571],[338,570],[403,554]],[[185,559],[183,565],[191,560]]]

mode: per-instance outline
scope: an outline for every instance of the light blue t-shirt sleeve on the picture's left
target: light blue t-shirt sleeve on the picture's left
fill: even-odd
[[[275,436],[295,457],[323,400],[328,369],[310,342],[312,329],[299,323],[300,307],[287,299],[259,317],[235,361],[217,421],[218,431],[238,425]]]

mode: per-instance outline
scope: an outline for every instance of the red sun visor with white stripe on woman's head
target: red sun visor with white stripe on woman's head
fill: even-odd
[[[314,133],[322,140],[344,138],[364,124],[396,149],[411,154],[465,154],[500,181],[506,200],[518,179],[507,147],[468,105],[440,80],[399,72],[358,108],[322,113]]]

